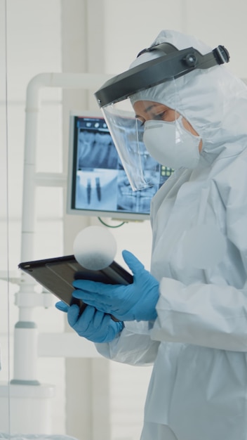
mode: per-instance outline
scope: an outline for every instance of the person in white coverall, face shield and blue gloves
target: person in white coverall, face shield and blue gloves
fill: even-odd
[[[128,72],[165,58],[163,43],[175,54],[212,53],[194,37],[162,31]],[[193,64],[193,56],[186,60]],[[154,364],[141,440],[247,439],[247,88],[222,63],[202,60],[123,93],[144,124],[149,153],[175,168],[152,200],[151,273],[123,251],[133,285],[76,280],[74,296],[89,304],[84,313],[57,305],[102,356]],[[117,144],[110,104],[102,110]]]

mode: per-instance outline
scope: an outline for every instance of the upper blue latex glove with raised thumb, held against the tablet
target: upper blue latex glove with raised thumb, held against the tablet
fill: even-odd
[[[133,284],[109,285],[75,280],[76,290],[72,295],[119,321],[153,321],[157,316],[155,306],[159,283],[131,252],[123,251],[123,259],[133,272]]]

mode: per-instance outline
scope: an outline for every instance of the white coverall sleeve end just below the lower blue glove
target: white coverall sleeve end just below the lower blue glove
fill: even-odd
[[[95,344],[105,358],[129,365],[152,365],[159,342],[150,338],[153,323],[136,321],[125,323],[120,335],[112,342]]]

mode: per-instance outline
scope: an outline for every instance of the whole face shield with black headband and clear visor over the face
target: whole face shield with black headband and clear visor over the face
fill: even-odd
[[[201,55],[192,47],[179,51],[161,43],[142,51],[130,70],[109,79],[95,93],[133,190],[160,186],[164,168],[179,167],[182,156],[186,166],[184,143],[191,139],[184,138],[191,134],[185,134],[185,121],[178,112],[175,80],[228,60],[224,46]],[[161,90],[168,96],[169,107],[159,100]],[[163,150],[168,152],[165,157]]]

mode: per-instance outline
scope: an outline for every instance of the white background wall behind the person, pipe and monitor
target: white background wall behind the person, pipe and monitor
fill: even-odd
[[[0,271],[7,266],[15,271],[20,262],[20,218],[22,209],[22,161],[25,127],[25,91],[29,79],[39,72],[106,72],[119,73],[128,68],[140,49],[149,46],[162,29],[188,32],[203,39],[211,46],[225,45],[230,52],[231,68],[236,75],[247,77],[245,41],[247,37],[245,0],[8,0],[7,4],[7,91],[6,113],[5,89],[5,1],[0,0]],[[2,13],[1,13],[2,12]],[[70,35],[70,38],[69,38]],[[63,105],[62,105],[63,103]],[[66,169],[67,111],[69,108],[96,107],[93,91],[85,93],[62,93],[46,89],[42,92],[41,124],[38,145],[39,171],[60,172]],[[8,117],[6,117],[6,115]],[[63,118],[63,119],[62,119]],[[8,136],[7,136],[8,135]],[[8,141],[8,143],[7,143]],[[62,143],[64,157],[62,157]],[[6,204],[6,145],[8,144],[9,224],[7,228]],[[3,191],[4,188],[4,191]],[[71,250],[74,235],[79,228],[95,219],[65,217],[65,237],[62,226],[62,191],[58,188],[41,188],[37,192],[37,222],[35,258],[53,257]],[[118,242],[116,259],[121,261],[121,250],[128,248],[149,267],[151,231],[149,222],[125,224],[112,230]],[[8,233],[8,237],[7,237]],[[8,238],[8,240],[7,240]],[[145,238],[145,240],[144,240]],[[65,247],[63,246],[65,241]],[[122,262],[122,261],[121,261]],[[3,347],[3,365],[0,380],[13,374],[13,347],[8,358],[6,335],[11,336],[18,320],[14,305],[15,285],[1,281],[0,343]],[[9,314],[8,314],[9,310]],[[63,331],[67,326],[54,308],[37,308],[34,318],[40,332]],[[11,342],[12,344],[12,342]],[[79,418],[80,402],[85,382],[80,384],[76,396],[74,386],[65,375],[80,375],[93,368],[91,384],[105,380],[103,402],[109,408],[110,438],[107,440],[138,440],[142,425],[142,410],[150,369],[133,368],[116,363],[103,363],[104,373],[99,373],[97,361],[72,361],[63,358],[40,358],[39,380],[56,385],[53,399],[53,432],[72,432],[72,413],[76,412],[76,433],[79,440],[103,440],[93,423],[102,420],[105,413],[88,420],[84,429]],[[9,367],[9,368],[8,368]],[[92,373],[92,371],[91,371]],[[91,374],[90,373],[90,374]],[[102,377],[101,377],[102,375]],[[87,381],[89,373],[86,373]],[[89,383],[89,382],[88,382]],[[90,387],[89,387],[90,388]],[[88,388],[88,393],[91,389]],[[138,399],[136,398],[138,396]],[[97,399],[97,394],[95,395]],[[133,404],[134,403],[134,404]],[[83,401],[86,405],[86,401]],[[105,410],[104,408],[104,410]],[[101,419],[100,419],[101,418]],[[98,427],[99,428],[99,427]],[[109,427],[106,427],[108,429]],[[81,431],[80,431],[81,429]],[[0,427],[1,430],[1,427]]]

